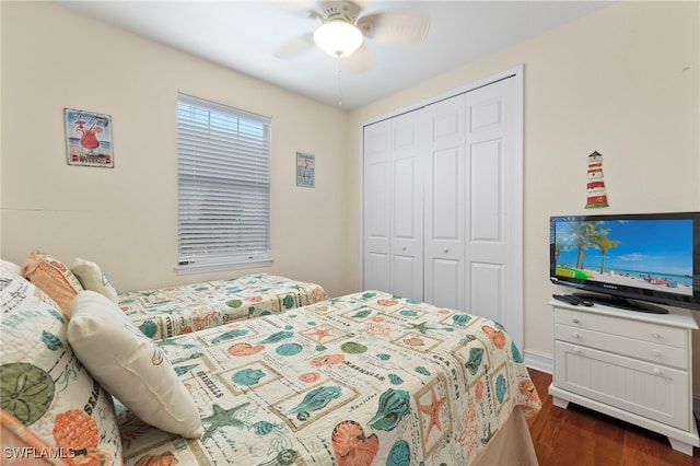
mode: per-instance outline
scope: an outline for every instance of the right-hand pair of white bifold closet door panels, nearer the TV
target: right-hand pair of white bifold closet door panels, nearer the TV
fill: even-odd
[[[425,107],[424,300],[509,329],[522,326],[523,280],[514,84],[502,80]]]

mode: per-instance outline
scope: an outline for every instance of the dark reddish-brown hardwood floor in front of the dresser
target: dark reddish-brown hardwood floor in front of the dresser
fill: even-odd
[[[663,435],[573,404],[553,406],[547,391],[551,375],[529,373],[542,400],[542,409],[527,421],[541,466],[700,466],[697,447],[695,456],[684,455]]]

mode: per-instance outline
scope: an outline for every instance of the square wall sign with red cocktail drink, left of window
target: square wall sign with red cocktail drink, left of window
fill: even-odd
[[[65,108],[63,119],[69,165],[114,168],[109,115]]]

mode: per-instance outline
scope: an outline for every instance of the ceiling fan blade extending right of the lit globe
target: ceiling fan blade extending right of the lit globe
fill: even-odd
[[[415,11],[387,11],[360,18],[365,37],[383,44],[417,44],[425,38],[430,18]]]

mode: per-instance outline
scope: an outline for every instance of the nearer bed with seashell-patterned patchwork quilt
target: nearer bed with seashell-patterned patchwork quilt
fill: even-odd
[[[119,406],[126,465],[537,464],[537,392],[508,333],[475,315],[364,291],[155,345],[203,434]]]

